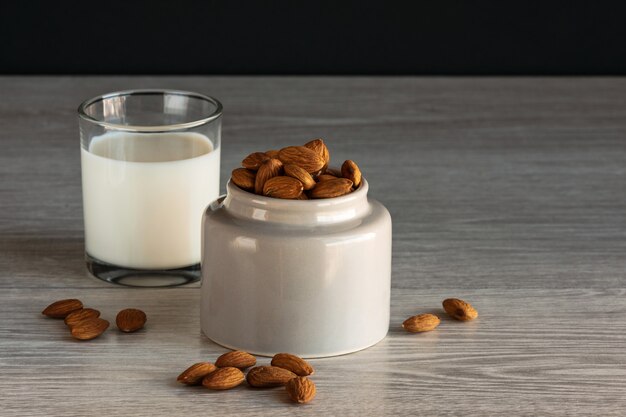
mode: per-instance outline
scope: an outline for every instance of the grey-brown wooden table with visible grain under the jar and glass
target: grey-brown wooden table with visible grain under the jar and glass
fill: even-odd
[[[225,352],[198,285],[87,276],[76,107],[139,87],[223,101],[222,184],[252,150],[321,136],[391,212],[389,336],[313,360],[313,403],[177,384]],[[626,413],[624,78],[3,77],[0,125],[3,416]],[[480,318],[402,330],[453,296]],[[74,341],[40,314],[68,297],[147,328]]]

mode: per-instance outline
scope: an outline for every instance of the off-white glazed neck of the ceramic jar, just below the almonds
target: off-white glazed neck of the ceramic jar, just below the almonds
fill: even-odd
[[[365,217],[370,211],[368,188],[363,179],[357,190],[341,197],[283,200],[243,191],[229,180],[223,205],[230,215],[240,219],[289,226],[327,226]]]

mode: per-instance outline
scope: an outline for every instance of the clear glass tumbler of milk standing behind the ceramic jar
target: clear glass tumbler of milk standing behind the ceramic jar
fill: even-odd
[[[134,90],[78,108],[85,252],[97,278],[173,286],[200,277],[204,209],[219,194],[222,105]]]

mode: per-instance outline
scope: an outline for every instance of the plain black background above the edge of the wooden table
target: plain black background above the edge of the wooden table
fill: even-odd
[[[617,1],[0,5],[3,74],[626,74]]]

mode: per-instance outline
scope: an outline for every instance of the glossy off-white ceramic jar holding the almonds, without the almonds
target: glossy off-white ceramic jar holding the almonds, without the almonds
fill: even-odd
[[[320,200],[255,195],[229,181],[203,220],[201,326],[257,355],[325,357],[389,329],[391,217],[354,192]]]

